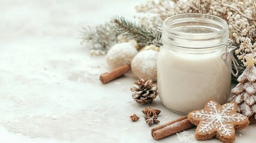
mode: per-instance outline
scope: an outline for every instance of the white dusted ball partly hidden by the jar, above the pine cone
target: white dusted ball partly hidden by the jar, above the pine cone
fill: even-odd
[[[146,50],[139,52],[131,62],[132,72],[138,78],[157,80],[156,58],[158,51]]]

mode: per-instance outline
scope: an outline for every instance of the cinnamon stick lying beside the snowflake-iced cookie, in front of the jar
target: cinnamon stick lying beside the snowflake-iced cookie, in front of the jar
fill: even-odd
[[[193,126],[195,125],[189,122],[187,116],[184,116],[151,129],[151,136],[153,139],[158,140],[174,133],[192,128]]]

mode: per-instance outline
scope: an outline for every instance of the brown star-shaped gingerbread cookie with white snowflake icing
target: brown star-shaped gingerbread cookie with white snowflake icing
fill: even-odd
[[[222,142],[233,142],[235,129],[243,129],[249,125],[248,117],[237,111],[238,105],[235,102],[220,105],[210,100],[205,108],[190,112],[187,118],[198,126],[195,133],[196,139],[206,140],[216,136]]]

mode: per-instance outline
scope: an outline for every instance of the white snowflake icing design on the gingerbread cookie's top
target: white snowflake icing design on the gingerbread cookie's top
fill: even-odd
[[[206,108],[192,112],[192,116],[201,120],[198,132],[206,133],[217,129],[220,135],[231,136],[235,132],[231,122],[240,122],[246,117],[242,114],[234,113],[235,103],[229,102],[218,108],[218,103],[209,101]]]

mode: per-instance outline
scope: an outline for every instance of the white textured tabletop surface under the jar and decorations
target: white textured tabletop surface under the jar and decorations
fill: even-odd
[[[147,126],[141,113],[146,105],[131,98],[135,79],[101,85],[104,57],[79,45],[82,27],[116,14],[131,19],[138,2],[145,1],[0,1],[1,142],[179,142],[177,135],[154,141],[156,125]],[[159,98],[150,106],[162,110],[161,123],[181,116]],[[135,123],[134,113],[141,117]],[[254,142],[255,128],[239,131],[236,142]]]

